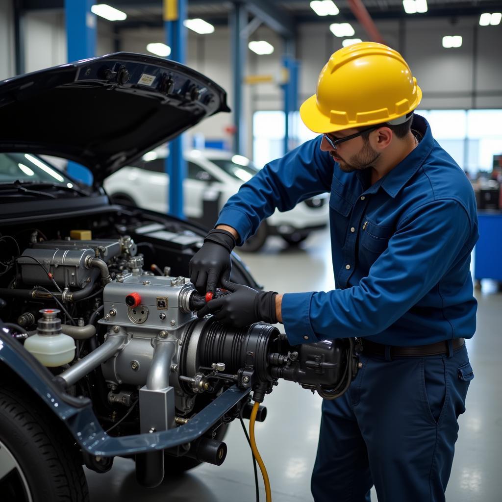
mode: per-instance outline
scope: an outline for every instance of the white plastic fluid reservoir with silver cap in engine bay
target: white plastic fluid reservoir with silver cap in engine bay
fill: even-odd
[[[61,366],[75,355],[75,341],[61,332],[58,309],[42,309],[38,320],[37,334],[25,341],[25,349],[31,352],[44,366]]]

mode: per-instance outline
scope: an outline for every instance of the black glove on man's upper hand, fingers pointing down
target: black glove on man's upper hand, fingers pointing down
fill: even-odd
[[[214,293],[218,281],[230,280],[230,253],[235,244],[235,237],[220,228],[214,228],[206,235],[204,244],[188,265],[190,281],[199,294]]]

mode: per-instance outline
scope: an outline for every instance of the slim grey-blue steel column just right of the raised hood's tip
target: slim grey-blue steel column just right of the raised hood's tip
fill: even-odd
[[[246,144],[246,121],[244,118],[244,99],[242,85],[244,80],[244,68],[247,55],[247,11],[244,4],[238,2],[233,4],[230,13],[230,40],[231,40],[231,61],[233,72],[233,126],[234,136],[232,150],[235,154],[243,155]]]

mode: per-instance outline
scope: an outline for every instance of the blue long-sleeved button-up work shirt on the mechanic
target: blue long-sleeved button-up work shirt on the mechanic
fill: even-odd
[[[373,185],[369,169],[341,171],[319,136],[267,164],[222,208],[217,224],[243,242],[276,207],[330,192],[336,289],[283,296],[290,343],[357,336],[412,346],[474,334],[474,192],[428,122],[415,115],[412,129],[419,145]]]

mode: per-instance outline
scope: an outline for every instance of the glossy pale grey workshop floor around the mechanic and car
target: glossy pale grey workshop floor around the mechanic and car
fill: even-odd
[[[300,248],[286,248],[281,239],[272,238],[261,253],[240,255],[266,290],[282,293],[334,287],[327,232],[309,237]],[[477,332],[467,343],[475,378],[467,396],[467,411],[459,419],[459,438],[446,491],[448,502],[502,500],[502,387],[498,361],[502,353],[502,294],[483,283],[476,297]],[[272,499],[311,501],[310,472],[317,447],[321,398],[281,381],[264,405],[267,420],[256,425],[256,437],[269,473]],[[252,457],[238,421],[230,425],[225,442],[228,454],[220,467],[205,464],[181,477],[167,476],[154,489],[136,483],[132,460],[115,459],[106,474],[87,470],[91,501],[253,502]],[[265,500],[263,488],[260,499]],[[372,501],[376,501],[374,489]]]

